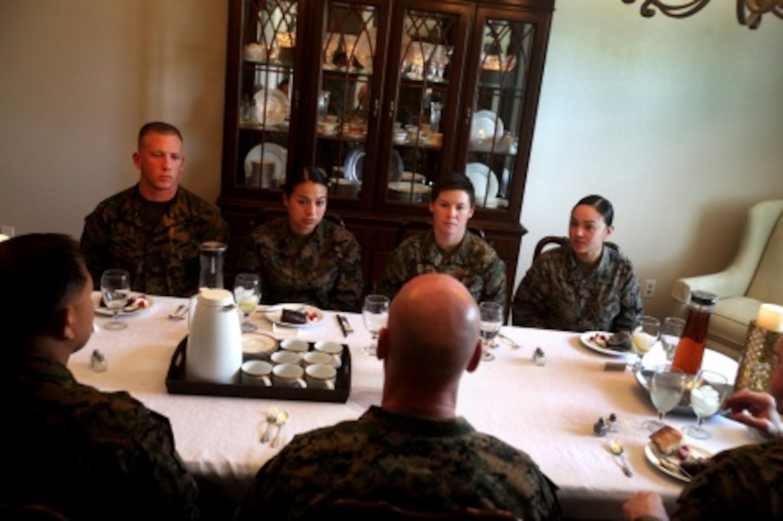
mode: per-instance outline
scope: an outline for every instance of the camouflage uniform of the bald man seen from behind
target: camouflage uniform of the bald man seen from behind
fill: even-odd
[[[300,519],[338,498],[561,519],[556,492],[528,455],[477,433],[464,419],[371,407],[358,421],[294,437],[258,471],[237,520]]]

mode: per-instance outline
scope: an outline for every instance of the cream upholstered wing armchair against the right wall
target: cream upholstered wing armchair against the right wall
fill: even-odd
[[[715,293],[718,303],[709,320],[707,346],[738,358],[750,321],[763,303],[783,305],[783,199],[750,208],[739,250],[719,273],[680,278],[674,282],[674,312],[687,313],[693,289]]]

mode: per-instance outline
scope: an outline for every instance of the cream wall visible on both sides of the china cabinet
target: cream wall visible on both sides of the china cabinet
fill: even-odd
[[[783,197],[783,23],[749,31],[731,3],[648,20],[620,0],[557,0],[520,276],[601,193],[662,315],[674,278],[731,259],[749,204]],[[226,17],[225,0],[0,2],[0,224],[78,236],[135,181],[135,133],[153,119],[182,129],[183,182],[214,200]]]

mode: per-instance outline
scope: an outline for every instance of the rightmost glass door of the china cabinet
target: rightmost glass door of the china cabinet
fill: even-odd
[[[478,23],[465,174],[473,181],[477,207],[503,210],[509,207],[515,173],[524,176],[527,168],[520,134],[532,132],[523,121],[536,24],[500,16],[478,16]]]

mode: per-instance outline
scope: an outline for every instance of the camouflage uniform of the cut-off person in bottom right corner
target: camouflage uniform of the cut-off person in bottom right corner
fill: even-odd
[[[783,519],[783,440],[713,456],[677,500],[672,519]]]

